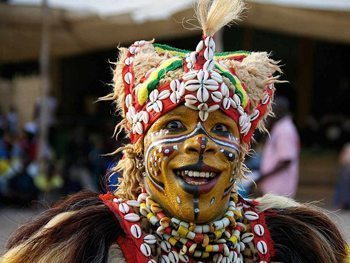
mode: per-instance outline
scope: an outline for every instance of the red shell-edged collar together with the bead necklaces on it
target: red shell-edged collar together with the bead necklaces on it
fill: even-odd
[[[139,247],[144,262],[268,262],[269,234],[254,202],[236,193],[230,196],[224,216],[210,224],[196,225],[168,217],[146,194],[124,201],[102,196],[106,205],[123,219],[123,228]],[[132,209],[131,209],[132,207]],[[157,261],[156,261],[157,260]],[[261,260],[261,261],[259,261]]]

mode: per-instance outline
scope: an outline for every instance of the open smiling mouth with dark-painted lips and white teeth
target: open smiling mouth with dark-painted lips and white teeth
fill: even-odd
[[[222,171],[204,163],[197,163],[173,169],[173,172],[180,186],[186,192],[196,195],[210,192]]]

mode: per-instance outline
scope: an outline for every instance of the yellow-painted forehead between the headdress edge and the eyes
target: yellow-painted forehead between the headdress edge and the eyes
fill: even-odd
[[[189,109],[185,106],[177,107],[174,110],[164,114],[151,126],[148,132],[154,132],[164,128],[163,125],[171,120],[180,120],[184,124],[188,125],[202,122],[205,127],[211,127],[215,124],[224,124],[231,128],[232,132],[236,136],[239,135],[238,126],[236,122],[229,116],[224,114],[221,110],[216,110],[214,112],[209,113],[209,117],[206,121],[203,122],[199,118],[198,111]]]

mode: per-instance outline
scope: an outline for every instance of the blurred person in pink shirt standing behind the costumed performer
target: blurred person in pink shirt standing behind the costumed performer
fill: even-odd
[[[274,118],[268,119],[270,136],[262,151],[258,190],[295,197],[299,179],[300,142],[289,111],[289,101],[276,97]]]

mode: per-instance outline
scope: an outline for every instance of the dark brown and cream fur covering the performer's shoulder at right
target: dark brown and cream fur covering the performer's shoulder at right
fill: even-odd
[[[278,262],[343,262],[346,243],[325,211],[292,199],[265,195],[257,199],[264,213]]]

